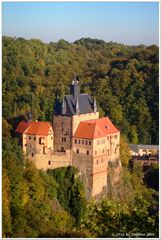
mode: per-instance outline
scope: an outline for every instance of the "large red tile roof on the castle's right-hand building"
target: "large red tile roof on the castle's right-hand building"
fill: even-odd
[[[108,117],[96,120],[87,120],[79,123],[74,138],[94,139],[106,137],[109,134],[118,133],[119,130],[113,125]]]

